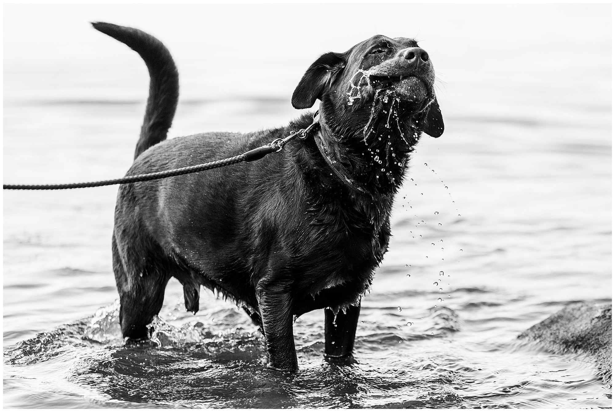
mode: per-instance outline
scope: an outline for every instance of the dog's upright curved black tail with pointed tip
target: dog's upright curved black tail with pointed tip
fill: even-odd
[[[136,159],[146,149],[167,138],[180,95],[177,67],[167,47],[141,30],[102,22],[92,23],[92,26],[135,50],[148,66],[149,97],[135,149]]]

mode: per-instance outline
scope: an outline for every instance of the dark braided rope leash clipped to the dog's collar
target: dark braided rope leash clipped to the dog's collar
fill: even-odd
[[[148,181],[164,179],[172,176],[188,175],[189,173],[202,172],[218,167],[229,166],[241,162],[253,162],[254,160],[262,159],[269,153],[282,151],[284,145],[295,137],[304,140],[308,137],[308,133],[318,124],[318,112],[314,114],[314,122],[306,129],[301,129],[298,132],[291,132],[285,138],[278,138],[269,145],[261,146],[260,148],[252,149],[239,156],[229,157],[228,159],[216,160],[215,162],[204,163],[200,165],[181,167],[172,170],[163,170],[162,172],[146,173],[144,175],[125,176],[119,179],[90,181],[83,183],[65,183],[65,184],[2,184],[2,189],[14,190],[57,190],[57,189],[79,189],[79,188],[95,188],[97,186],[110,186],[111,184],[134,183],[137,181]]]

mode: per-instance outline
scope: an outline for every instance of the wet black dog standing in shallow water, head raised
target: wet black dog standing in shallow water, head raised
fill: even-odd
[[[169,50],[133,28],[93,26],[136,50],[151,77],[128,175],[236,156],[312,124],[304,114],[280,129],[165,140],[178,100]],[[308,68],[292,104],[321,103],[304,140],[258,162],[122,185],[113,270],[123,335],[148,339],[173,276],[188,311],[199,309],[200,285],[242,306],[263,331],[269,368],[297,368],[293,317],[314,309],[325,308],[325,355],[351,355],[409,153],[421,132],[444,130],[433,87],[431,58],[414,40],[374,36]]]

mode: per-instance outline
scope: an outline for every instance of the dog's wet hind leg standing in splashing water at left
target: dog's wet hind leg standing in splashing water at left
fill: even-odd
[[[113,272],[120,298],[119,323],[122,326],[122,336],[137,341],[148,339],[147,325],[160,312],[170,274],[163,269],[164,265],[140,273],[127,271],[115,236],[112,250]]]

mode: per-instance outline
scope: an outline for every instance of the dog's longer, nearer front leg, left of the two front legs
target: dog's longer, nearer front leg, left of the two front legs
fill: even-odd
[[[280,371],[297,369],[290,292],[279,284],[259,282],[258,307],[263,320],[267,367]]]

